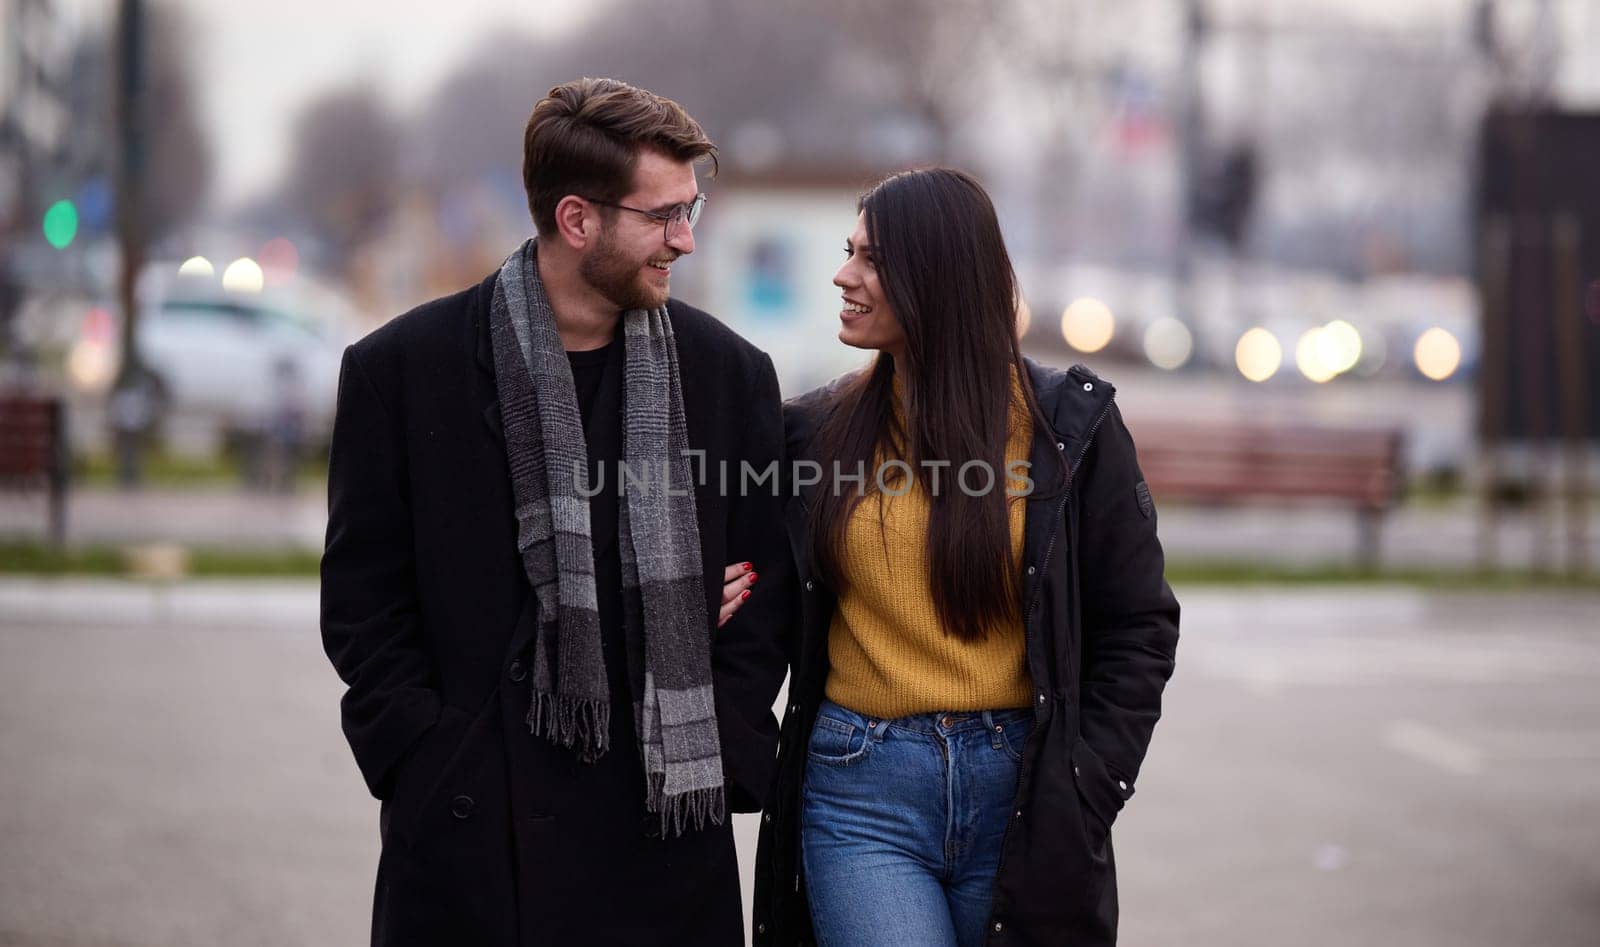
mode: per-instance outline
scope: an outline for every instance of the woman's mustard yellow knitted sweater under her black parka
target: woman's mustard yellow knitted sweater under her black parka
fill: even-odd
[[[1010,470],[1014,461],[1027,461],[1034,438],[1034,419],[1014,378],[1006,435]],[[1005,489],[1006,472],[995,473],[995,489]],[[851,513],[840,550],[846,587],[827,635],[827,656],[834,665],[827,675],[827,697],[882,718],[1027,707],[1032,685],[1021,621],[990,629],[982,641],[947,635],[930,592],[933,577],[928,574],[926,531],[931,497],[926,488],[918,483],[906,496],[883,494],[880,533],[880,497],[872,493],[872,472],[867,477],[869,493]],[[941,494],[957,489],[954,477],[950,467],[939,470]],[[893,478],[885,480],[893,488]],[[973,470],[966,483],[979,488],[982,480]],[[1016,478],[1010,483],[1021,488]],[[1026,497],[1006,497],[1011,566],[1016,569],[1022,565],[1026,505]]]

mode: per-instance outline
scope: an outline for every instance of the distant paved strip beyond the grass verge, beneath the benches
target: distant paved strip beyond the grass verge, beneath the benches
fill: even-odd
[[[1590,504],[1587,545],[1600,569],[1600,502]],[[1254,560],[1280,565],[1349,563],[1357,550],[1355,517],[1326,507],[1162,509],[1162,542],[1184,560]],[[80,489],[72,497],[69,541],[80,544],[182,542],[238,549],[322,549],[328,501],[320,488],[299,494],[253,494],[230,488]],[[0,539],[40,534],[43,505],[0,494]],[[1398,566],[1462,568],[1477,561],[1478,518],[1470,504],[1411,505],[1384,526],[1384,561]],[[1501,563],[1560,566],[1566,520],[1558,510],[1509,513],[1499,529]]]

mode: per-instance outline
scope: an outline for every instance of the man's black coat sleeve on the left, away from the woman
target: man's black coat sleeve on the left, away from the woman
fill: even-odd
[[[440,712],[418,617],[408,493],[400,419],[347,349],[328,459],[322,643],[349,685],[344,736],[378,798]]]

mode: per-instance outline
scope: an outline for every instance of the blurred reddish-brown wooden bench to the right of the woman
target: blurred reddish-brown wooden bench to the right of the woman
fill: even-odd
[[[1384,513],[1405,486],[1400,430],[1150,422],[1133,432],[1157,501],[1347,504],[1358,518],[1357,555],[1378,565]]]

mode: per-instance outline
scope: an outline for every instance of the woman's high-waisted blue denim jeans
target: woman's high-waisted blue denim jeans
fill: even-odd
[[[818,944],[981,944],[1032,710],[862,717],[822,701],[800,851]]]

